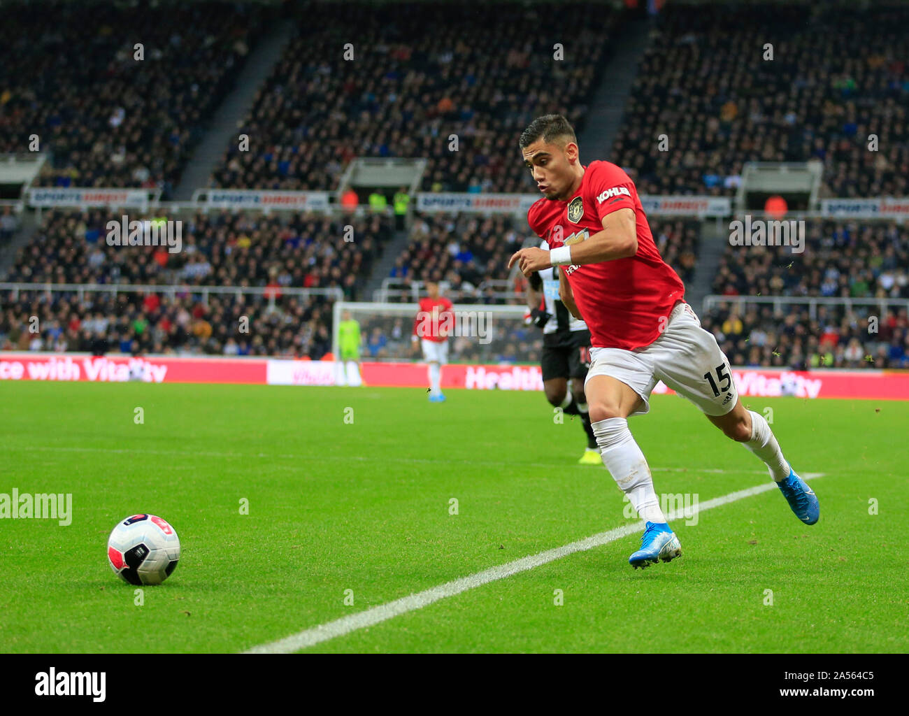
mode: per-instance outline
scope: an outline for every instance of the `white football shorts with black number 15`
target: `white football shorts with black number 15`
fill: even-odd
[[[701,328],[700,319],[687,303],[674,307],[664,332],[654,343],[634,351],[591,348],[590,361],[584,383],[594,375],[609,375],[641,396],[644,407],[632,415],[650,412],[650,393],[659,381],[707,415],[725,415],[738,400],[729,359],[714,334]]]

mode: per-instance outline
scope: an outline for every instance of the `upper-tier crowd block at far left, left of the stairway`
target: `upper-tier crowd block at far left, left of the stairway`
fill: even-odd
[[[262,28],[260,5],[5,3],[0,154],[49,154],[35,184],[168,198]]]

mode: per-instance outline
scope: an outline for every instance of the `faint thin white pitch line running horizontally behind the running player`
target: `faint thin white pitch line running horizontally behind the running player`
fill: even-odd
[[[572,463],[564,462],[516,462],[504,460],[448,460],[445,458],[434,460],[432,458],[412,458],[412,457],[368,457],[363,455],[319,455],[310,453],[308,455],[290,454],[286,452],[212,452],[206,450],[150,450],[147,448],[86,448],[86,447],[55,447],[51,445],[9,445],[4,446],[4,450],[22,450],[23,452],[113,452],[124,455],[142,454],[142,455],[172,455],[177,457],[238,457],[249,459],[251,457],[272,457],[285,458],[288,460],[314,460],[316,462],[325,462],[328,460],[359,462],[404,462],[407,464],[464,464],[464,465],[499,465],[508,467],[572,467]],[[580,465],[578,467],[581,467]],[[590,467],[586,465],[585,467]],[[752,474],[765,475],[766,470],[725,470],[724,468],[688,468],[688,467],[652,467],[650,472],[709,472],[711,474]]]

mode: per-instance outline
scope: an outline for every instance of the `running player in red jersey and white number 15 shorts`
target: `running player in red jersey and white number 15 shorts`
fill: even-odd
[[[795,515],[817,522],[817,497],[786,462],[764,416],[739,400],[729,361],[684,302],[684,284],[657,251],[629,176],[609,162],[581,164],[574,129],[559,114],[535,119],[519,144],[544,197],[530,207],[527,221],[550,250],[521,249],[508,266],[518,264],[525,276],[563,266],[562,302],[590,329],[584,393],[591,426],[604,465],[646,524],[632,566],[682,553],[628,430],[631,415],[650,410],[658,381],[744,443],[767,465]]]

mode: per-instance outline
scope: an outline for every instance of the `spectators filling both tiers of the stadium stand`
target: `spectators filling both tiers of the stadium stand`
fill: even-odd
[[[166,198],[265,24],[266,11],[255,5],[237,5],[234,13],[223,7],[142,6],[126,13],[113,5],[52,3],[40,12],[10,5],[0,27],[0,43],[12,50],[0,65],[0,153],[26,151],[37,126],[52,154],[38,184],[157,187]],[[541,34],[542,6],[404,7],[347,5],[357,18],[349,61],[344,45],[352,39],[335,22],[336,6],[298,8],[305,14],[300,35],[238,127],[252,138],[250,151],[229,148],[211,186],[333,190],[354,156],[405,156],[430,160],[426,192],[533,193],[516,161],[516,134],[548,112],[584,128],[622,15],[598,4],[560,6],[559,24],[573,34],[564,59],[556,60],[553,45],[564,38]],[[585,148],[585,158],[623,165],[641,194],[732,195],[744,162],[809,159],[824,164],[824,194],[909,194],[909,35],[901,29],[909,8],[778,9],[771,18],[759,5],[714,6],[709,14],[666,7],[612,152]],[[39,39],[25,43],[25,36]],[[141,63],[132,55],[140,41]],[[774,45],[773,60],[764,59],[765,43]],[[71,45],[80,62],[69,61]],[[867,151],[873,133],[881,138],[877,152]],[[660,134],[671,151],[658,150]],[[390,215],[214,211],[171,218],[178,215],[184,250],[168,254],[107,246],[105,226],[120,212],[48,211],[5,281],[161,290],[5,293],[0,347],[317,359],[330,350],[331,300],[287,289],[334,288],[347,300],[368,300],[365,284],[395,236]],[[10,207],[0,207],[0,248],[18,221]],[[726,246],[710,277],[697,273],[702,220],[654,214],[650,221],[661,254],[689,287],[703,283],[707,293],[712,283],[714,293],[730,297],[702,318],[733,363],[909,367],[906,311],[887,303],[909,298],[904,225],[809,220],[804,254]],[[342,239],[346,224],[355,229],[352,243]],[[415,212],[407,231],[406,244],[398,236],[395,245],[405,248],[386,276],[404,289],[400,298],[409,300],[415,285],[433,280],[444,282],[456,303],[523,303],[523,279],[505,269],[516,248],[534,241],[523,217]],[[718,255],[718,244],[712,250]],[[167,290],[175,284],[192,288]],[[502,284],[511,297],[501,295]],[[211,286],[270,293],[205,295]],[[736,296],[880,303],[733,303]],[[237,331],[242,315],[250,316],[249,334]],[[29,333],[32,316],[48,330]],[[874,318],[876,333],[869,330]],[[391,358],[414,348],[407,320],[367,320],[363,328],[367,356]],[[535,362],[538,343],[536,329],[517,326],[494,353],[454,339],[453,355]]]

